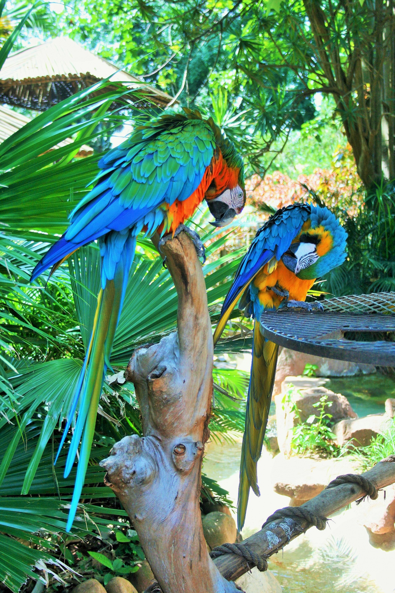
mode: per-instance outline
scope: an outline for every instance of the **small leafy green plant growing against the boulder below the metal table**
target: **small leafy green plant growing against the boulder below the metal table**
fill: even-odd
[[[330,420],[332,414],[325,411],[326,407],[331,407],[332,401],[327,401],[327,396],[320,397],[313,407],[317,408],[319,415],[311,414],[306,422],[301,422],[293,428],[291,439],[291,449],[293,452],[301,455],[319,454],[325,457],[333,457],[338,454],[339,447],[334,440],[336,435],[330,429]],[[299,420],[300,410],[294,404],[294,410],[297,410]]]

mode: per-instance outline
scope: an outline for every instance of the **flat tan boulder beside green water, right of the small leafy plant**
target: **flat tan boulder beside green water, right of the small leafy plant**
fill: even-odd
[[[386,414],[370,414],[364,418],[348,418],[336,422],[332,431],[341,447],[344,444],[366,447],[372,438],[386,430],[391,420]]]

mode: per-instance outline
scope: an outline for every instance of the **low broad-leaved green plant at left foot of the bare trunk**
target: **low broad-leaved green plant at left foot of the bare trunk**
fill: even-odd
[[[139,536],[136,531],[129,529],[127,530],[127,535],[122,531],[115,531],[115,537],[117,538],[119,545],[115,550],[114,560],[111,560],[101,552],[88,551],[89,556],[97,560],[97,562],[105,568],[110,569],[110,572],[105,572],[103,575],[104,586],[106,586],[114,576],[125,576],[129,575],[131,572],[137,572],[140,568],[137,564],[145,558],[143,549],[138,543]],[[124,562],[124,557],[127,556],[137,556],[138,560],[133,560],[130,562],[130,565],[127,565]]]

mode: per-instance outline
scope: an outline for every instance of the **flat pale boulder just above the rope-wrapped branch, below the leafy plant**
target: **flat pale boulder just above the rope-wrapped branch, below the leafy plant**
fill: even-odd
[[[310,459],[280,453],[273,460],[271,482],[274,492],[290,497],[290,506],[300,506],[314,498],[335,477],[357,473],[358,466],[346,458]]]

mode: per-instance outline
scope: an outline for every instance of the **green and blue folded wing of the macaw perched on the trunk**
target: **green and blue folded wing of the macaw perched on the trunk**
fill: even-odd
[[[214,147],[210,126],[192,120],[184,122],[184,127],[179,125],[159,134],[158,129],[143,135],[138,132],[108,152],[99,161],[99,167],[107,173],[73,211],[68,230],[37,264],[32,280],[78,247],[111,230],[121,231],[137,223],[141,230],[147,224],[141,224],[144,216],[164,202],[172,205],[176,199],[187,199],[201,183]],[[149,219],[150,231],[156,221],[163,221],[162,212],[160,209],[158,216]]]

